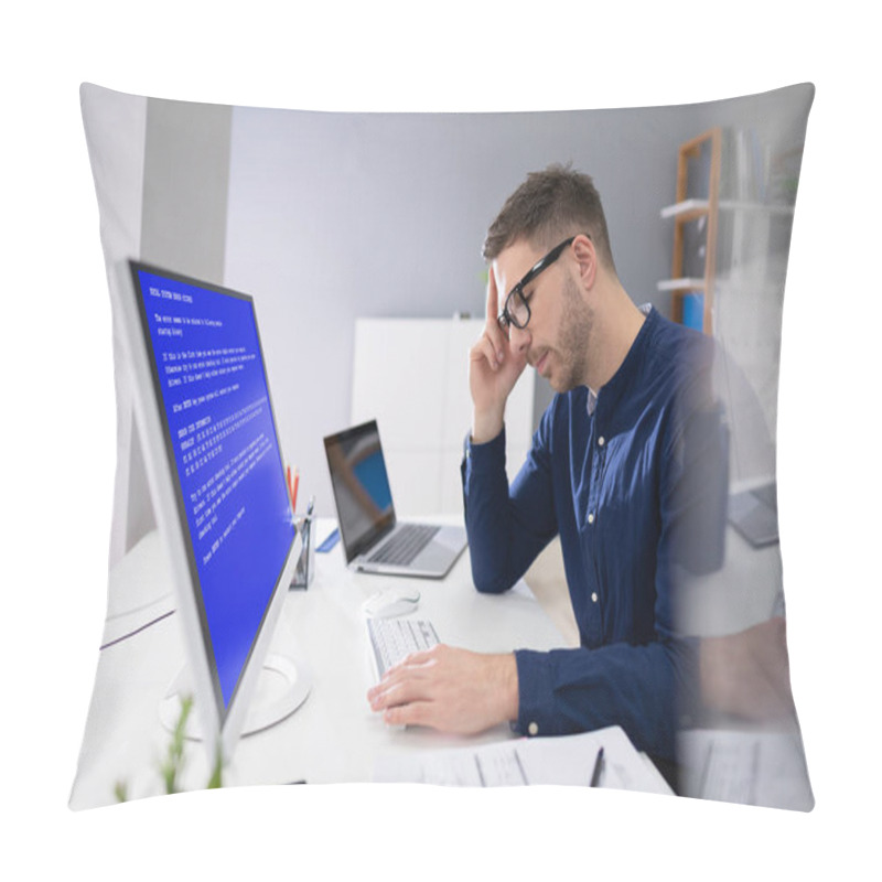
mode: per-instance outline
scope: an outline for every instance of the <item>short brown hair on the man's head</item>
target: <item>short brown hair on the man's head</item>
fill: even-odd
[[[594,182],[569,165],[530,172],[508,197],[484,240],[484,259],[495,260],[509,245],[525,239],[550,250],[568,236],[587,233],[600,260],[615,272],[606,218]]]

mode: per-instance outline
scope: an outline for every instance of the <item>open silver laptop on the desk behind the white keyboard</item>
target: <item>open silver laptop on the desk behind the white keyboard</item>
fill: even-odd
[[[358,572],[441,579],[467,540],[460,526],[395,515],[376,420],[324,439],[346,564]]]

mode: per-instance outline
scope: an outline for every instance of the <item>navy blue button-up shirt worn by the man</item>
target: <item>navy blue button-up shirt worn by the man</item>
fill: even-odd
[[[677,699],[696,678],[675,633],[676,573],[719,566],[693,537],[708,535],[708,478],[727,481],[710,346],[652,310],[592,412],[585,387],[555,397],[510,488],[504,431],[466,445],[475,587],[506,591],[559,534],[579,626],[579,648],[516,652],[523,734],[619,724],[638,750],[675,756]]]

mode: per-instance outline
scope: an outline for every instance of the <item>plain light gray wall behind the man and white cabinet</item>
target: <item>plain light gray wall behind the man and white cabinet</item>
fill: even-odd
[[[528,171],[562,161],[594,176],[625,288],[667,313],[659,209],[693,117],[235,110],[224,278],[257,300],[282,439],[320,513],[333,512],[322,437],[349,421],[354,320],[483,315],[481,245]],[[545,381],[537,397],[538,416]]]

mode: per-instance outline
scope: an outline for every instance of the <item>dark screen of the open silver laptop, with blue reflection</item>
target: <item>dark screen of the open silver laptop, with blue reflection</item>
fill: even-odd
[[[324,439],[346,562],[395,526],[395,509],[376,420]]]

